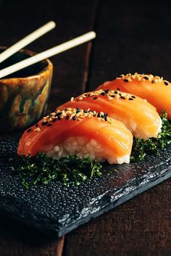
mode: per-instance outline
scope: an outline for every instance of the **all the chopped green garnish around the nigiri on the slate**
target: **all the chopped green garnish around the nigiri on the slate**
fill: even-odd
[[[144,160],[147,154],[157,154],[159,149],[171,144],[171,122],[167,120],[167,112],[163,111],[161,118],[162,131],[157,139],[134,139],[131,162]],[[65,186],[70,186],[70,183],[80,185],[88,178],[102,175],[102,165],[92,162],[89,157],[83,159],[70,156],[54,160],[41,153],[34,157],[16,157],[11,160],[12,170],[19,173],[26,189],[36,184],[48,184],[52,180],[62,181]],[[117,172],[117,169],[111,170],[112,173],[114,171]]]

